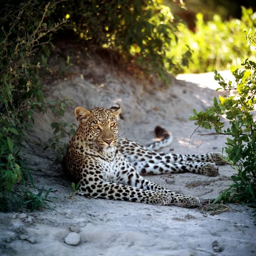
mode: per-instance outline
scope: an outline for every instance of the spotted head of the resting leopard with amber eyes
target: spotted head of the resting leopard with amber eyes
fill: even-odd
[[[119,103],[111,108],[76,108],[75,115],[79,122],[77,135],[89,147],[104,150],[116,146],[118,119],[121,112]],[[76,136],[75,136],[76,137]]]

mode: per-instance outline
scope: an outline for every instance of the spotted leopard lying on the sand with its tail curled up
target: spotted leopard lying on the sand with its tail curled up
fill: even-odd
[[[157,126],[155,134],[159,141],[140,145],[119,136],[120,113],[119,103],[111,108],[75,109],[79,126],[67,146],[63,166],[69,177],[79,181],[77,194],[87,198],[198,207],[198,197],[173,192],[142,175],[192,172],[217,176],[217,165],[225,164],[221,153],[157,152],[172,143],[171,134]]]

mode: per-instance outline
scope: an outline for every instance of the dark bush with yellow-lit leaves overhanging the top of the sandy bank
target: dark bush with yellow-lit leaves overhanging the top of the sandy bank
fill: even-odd
[[[134,73],[157,73],[167,82],[166,70],[180,70],[191,57],[189,49],[179,52],[178,60],[166,52],[177,44],[175,35],[181,22],[169,7],[157,0],[86,0],[67,1],[58,6],[54,16],[66,18],[66,28],[87,42],[91,51],[110,50],[126,65],[133,63]],[[183,3],[183,1],[180,1]],[[183,62],[180,62],[182,61]],[[137,69],[134,68],[137,64]],[[146,71],[146,72],[145,72]]]

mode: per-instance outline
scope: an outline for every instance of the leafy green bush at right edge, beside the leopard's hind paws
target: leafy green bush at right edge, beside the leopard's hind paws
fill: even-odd
[[[247,42],[256,47],[256,32],[249,31],[245,34]],[[229,135],[226,147],[227,160],[236,170],[237,175],[231,176],[234,184],[226,189],[216,200],[223,199],[233,203],[251,203],[256,207],[256,121],[253,113],[256,105],[256,63],[246,59],[242,66],[246,70],[231,67],[231,72],[236,79],[235,84],[224,81],[215,70],[214,79],[218,81],[221,88],[227,92],[223,97],[213,100],[213,106],[206,112],[197,113],[190,120],[196,120],[195,125],[211,129],[216,134]],[[230,96],[231,92],[236,94]],[[229,120],[229,127],[224,128],[221,115]]]

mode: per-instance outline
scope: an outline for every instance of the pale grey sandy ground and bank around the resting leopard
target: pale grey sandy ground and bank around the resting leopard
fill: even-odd
[[[153,86],[137,81],[92,61],[79,72],[73,79],[47,88],[51,99],[74,99],[73,107],[66,111],[68,122],[76,122],[73,110],[78,106],[109,108],[119,102],[124,116],[120,133],[130,139],[148,144],[154,139],[155,125],[160,124],[174,136],[172,145],[163,149],[165,152],[204,153],[221,151],[224,146],[223,136],[196,135],[207,133],[203,129],[198,129],[189,141],[196,128],[188,120],[192,109],[205,110],[213,96],[218,96],[212,90],[216,88],[216,83],[210,82],[212,73],[179,76],[180,80],[174,79],[172,87],[166,89],[160,83]],[[33,171],[36,187],[53,187],[51,194],[58,199],[50,203],[52,211],[0,213],[0,255],[256,255],[255,219],[247,206],[227,205],[229,211],[210,215],[200,209],[69,197],[71,182],[54,164],[52,151],[42,152],[42,145],[52,136],[53,117],[50,112],[38,115],[44,122],[35,118],[35,129],[29,133],[23,155]],[[220,166],[217,177],[183,173],[147,178],[204,201],[216,198],[227,188],[233,173],[230,166]],[[68,235],[73,236],[71,243],[78,245],[67,244]]]

